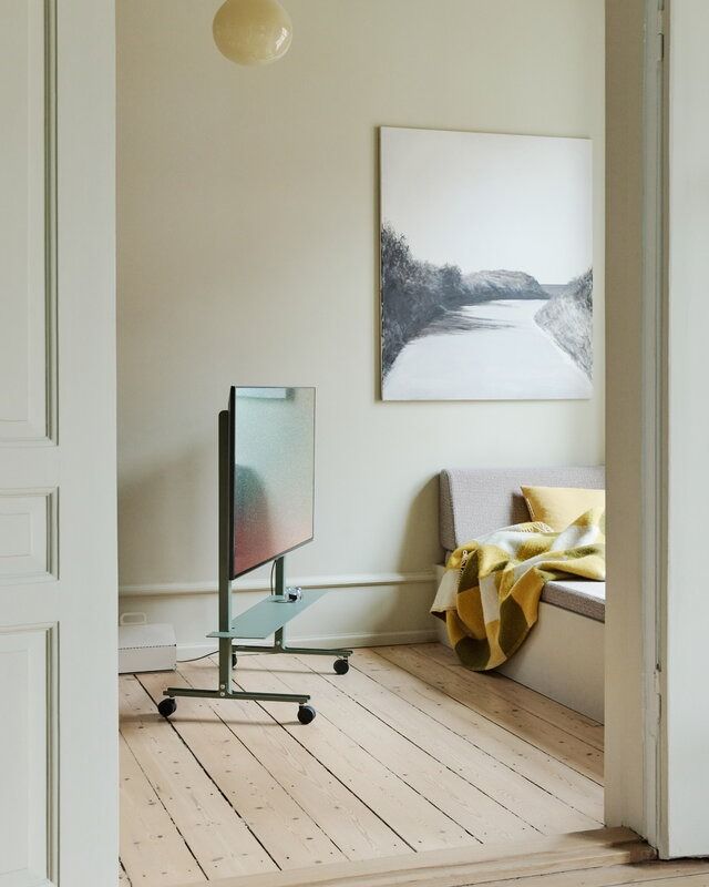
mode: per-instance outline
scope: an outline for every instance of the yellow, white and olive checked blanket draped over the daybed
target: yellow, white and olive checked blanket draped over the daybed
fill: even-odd
[[[590,509],[563,532],[517,523],[456,549],[431,612],[445,620],[463,665],[489,671],[520,649],[537,619],[546,582],[606,577],[604,510]]]

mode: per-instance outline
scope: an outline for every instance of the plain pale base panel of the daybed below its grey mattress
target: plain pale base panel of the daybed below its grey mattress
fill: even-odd
[[[441,643],[450,646],[436,620]],[[497,671],[594,721],[604,721],[604,623],[540,603],[530,636]]]

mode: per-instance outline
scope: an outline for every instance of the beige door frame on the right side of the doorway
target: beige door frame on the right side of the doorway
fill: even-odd
[[[660,854],[669,2],[606,0],[606,825],[634,828]]]

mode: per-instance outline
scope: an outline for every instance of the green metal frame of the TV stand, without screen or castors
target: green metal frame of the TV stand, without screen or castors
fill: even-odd
[[[242,616],[236,619],[232,618],[232,546],[234,542],[234,533],[232,530],[232,514],[233,514],[233,497],[229,483],[229,473],[232,471],[230,450],[229,450],[229,414],[227,410],[219,412],[219,630],[212,632],[208,636],[218,640],[218,659],[219,659],[219,686],[217,690],[202,690],[197,687],[171,686],[163,691],[163,695],[175,697],[186,696],[196,699],[226,699],[226,700],[248,700],[254,702],[296,702],[299,705],[305,705],[310,701],[310,696],[306,693],[250,693],[248,691],[235,691],[232,682],[232,654],[238,653],[294,653],[294,654],[308,654],[319,656],[335,656],[337,659],[349,659],[352,654],[351,650],[337,648],[326,650],[321,648],[310,646],[288,646],[285,639],[285,625],[291,619],[302,612],[306,606],[316,601],[307,601],[305,605],[296,605],[299,602],[291,602],[288,598],[288,590],[286,589],[286,559],[284,557],[276,559],[276,575],[274,594],[268,599],[277,602],[278,606],[292,608],[292,612],[288,618],[281,622],[280,626],[274,632],[273,645],[259,644],[235,644],[234,639],[244,636],[238,634],[238,624]],[[308,593],[307,591],[305,592]],[[314,593],[317,595],[316,600],[321,598],[323,592],[318,590]],[[255,604],[248,612],[260,606],[264,602]],[[288,612],[285,611],[285,612]],[[281,621],[279,616],[277,621]],[[270,631],[268,632],[270,634]],[[268,636],[267,634],[264,636]]]

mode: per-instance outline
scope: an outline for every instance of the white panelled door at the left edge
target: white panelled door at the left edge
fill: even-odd
[[[116,881],[113,0],[0,2],[0,887]]]

